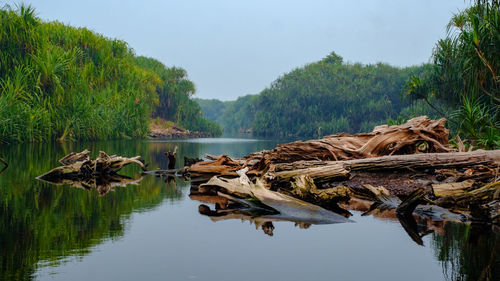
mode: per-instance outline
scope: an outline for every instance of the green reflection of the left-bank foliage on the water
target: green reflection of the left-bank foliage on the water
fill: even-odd
[[[123,236],[132,212],[182,196],[182,189],[150,176],[144,177],[138,187],[128,185],[107,193],[115,186],[140,178],[135,167],[123,170],[133,179],[120,177],[85,183],[86,187],[96,186],[99,192],[36,181],[37,175],[56,165],[68,150],[81,151],[86,148],[83,145],[89,145],[92,151],[102,148],[116,154],[146,155],[145,158],[149,154],[147,143],[72,144],[73,148],[65,148],[66,145],[69,144],[63,144],[63,149],[58,144],[0,148],[7,159],[17,159],[0,177],[0,280],[29,280],[37,264],[57,264],[67,256],[87,254],[105,239]],[[25,160],[20,155],[29,158]],[[177,184],[185,186],[182,182]],[[99,193],[107,194],[102,197]]]

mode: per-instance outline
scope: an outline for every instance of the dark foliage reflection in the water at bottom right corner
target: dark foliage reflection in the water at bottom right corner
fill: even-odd
[[[500,234],[487,225],[448,223],[432,248],[448,280],[499,280]]]

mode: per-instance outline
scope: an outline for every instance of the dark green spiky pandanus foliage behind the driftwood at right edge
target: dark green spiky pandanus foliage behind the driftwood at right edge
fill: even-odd
[[[500,6],[476,1],[454,15],[428,71],[412,77],[406,93],[447,115],[476,146],[500,146]]]

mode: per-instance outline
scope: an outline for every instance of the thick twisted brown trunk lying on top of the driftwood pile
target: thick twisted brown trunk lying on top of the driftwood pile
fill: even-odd
[[[450,152],[446,119],[421,116],[397,126],[378,126],[371,133],[337,134],[319,140],[278,145],[260,156],[260,169],[300,160],[338,161],[383,155]],[[257,155],[254,155],[256,157]]]

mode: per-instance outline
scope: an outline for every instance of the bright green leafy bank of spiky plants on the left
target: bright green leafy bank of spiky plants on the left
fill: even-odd
[[[123,41],[42,22],[29,6],[0,10],[0,141],[143,137],[154,111],[217,133],[193,93],[183,69]]]

